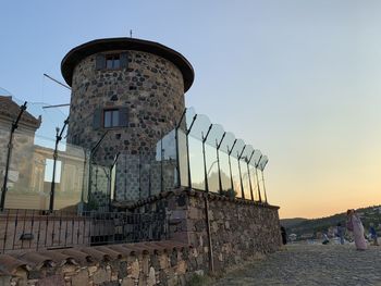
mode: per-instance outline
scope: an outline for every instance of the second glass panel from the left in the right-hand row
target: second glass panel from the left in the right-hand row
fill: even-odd
[[[205,190],[202,142],[193,136],[188,137],[188,141],[192,187]]]

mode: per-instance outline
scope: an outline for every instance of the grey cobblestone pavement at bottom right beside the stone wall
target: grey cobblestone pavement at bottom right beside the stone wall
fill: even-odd
[[[381,247],[357,251],[354,245],[290,245],[213,285],[381,286]]]

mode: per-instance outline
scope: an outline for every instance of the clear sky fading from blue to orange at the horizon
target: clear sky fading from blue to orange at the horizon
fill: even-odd
[[[381,1],[0,0],[0,87],[69,102],[60,62],[133,36],[193,64],[186,105],[268,154],[281,217],[381,203]]]

